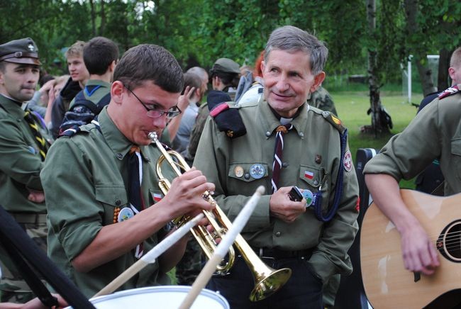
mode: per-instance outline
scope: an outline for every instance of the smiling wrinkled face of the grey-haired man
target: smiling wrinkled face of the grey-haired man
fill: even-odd
[[[302,51],[272,50],[261,67],[265,99],[284,118],[294,116],[325,78],[324,72],[312,74],[310,57]]]

